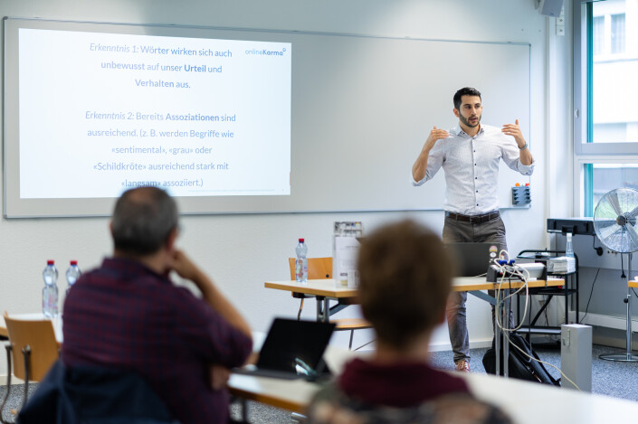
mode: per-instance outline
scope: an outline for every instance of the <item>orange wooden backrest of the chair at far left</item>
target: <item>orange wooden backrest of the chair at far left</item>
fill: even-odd
[[[60,356],[51,320],[14,319],[5,313],[5,324],[12,346],[14,375],[19,379],[25,378],[22,350],[28,345],[31,348],[29,380],[41,381]]]

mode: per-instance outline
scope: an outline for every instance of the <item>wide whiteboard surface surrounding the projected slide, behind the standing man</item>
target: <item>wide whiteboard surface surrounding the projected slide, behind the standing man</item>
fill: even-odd
[[[180,197],[183,213],[441,209],[443,171],[414,187],[411,168],[433,126],[457,124],[452,95],[465,86],[482,93],[483,123],[500,127],[518,118],[533,146],[528,43],[5,19],[6,217],[110,215],[114,202],[20,198],[15,59],[21,27],[291,43],[290,195]],[[512,185],[528,182],[501,166],[501,208],[513,207]]]

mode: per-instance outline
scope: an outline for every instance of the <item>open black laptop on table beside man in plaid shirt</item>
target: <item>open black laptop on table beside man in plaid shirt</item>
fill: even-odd
[[[333,323],[275,318],[257,364],[234,368],[233,372],[286,380],[316,380],[329,374],[323,353],[334,329]]]

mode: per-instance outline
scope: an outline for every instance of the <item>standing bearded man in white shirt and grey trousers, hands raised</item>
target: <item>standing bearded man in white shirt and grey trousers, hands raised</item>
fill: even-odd
[[[499,214],[499,161],[502,159],[520,174],[532,174],[534,160],[528,143],[520,132],[518,119],[500,129],[481,125],[483,108],[478,90],[458,90],[453,103],[459,127],[449,132],[433,127],[412,166],[413,184],[424,184],[443,167],[443,241],[493,241],[507,250],[505,226]],[[470,371],[466,299],[466,292],[452,292],[446,311],[455,368],[462,372]]]

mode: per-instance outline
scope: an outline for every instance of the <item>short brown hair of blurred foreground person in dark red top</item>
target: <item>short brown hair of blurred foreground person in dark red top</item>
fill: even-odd
[[[363,240],[357,265],[361,310],[380,342],[404,349],[440,322],[452,262],[433,231],[409,220],[386,225]]]

